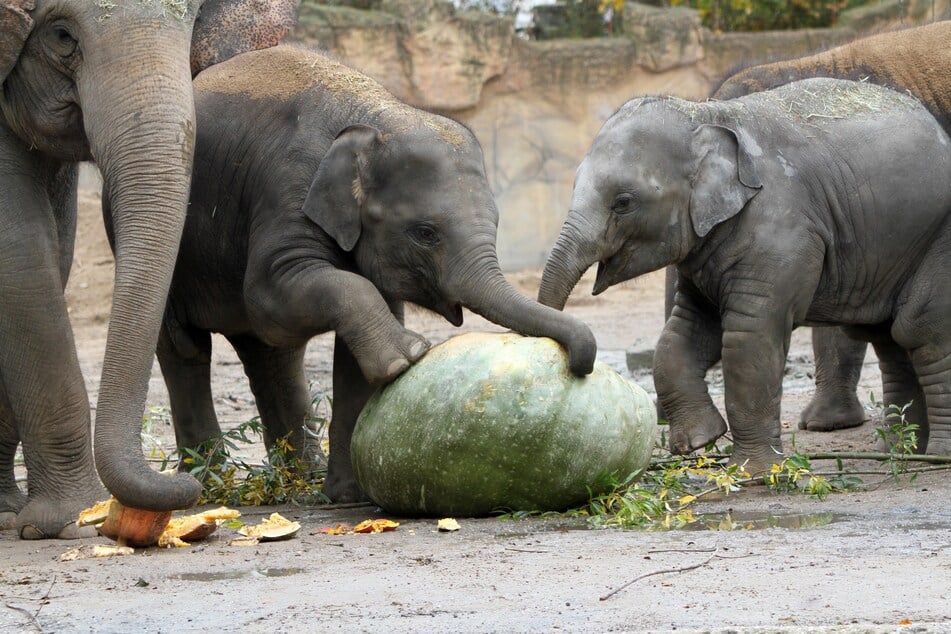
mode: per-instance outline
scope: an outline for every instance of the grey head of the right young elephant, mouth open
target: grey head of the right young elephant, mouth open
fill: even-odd
[[[745,131],[707,122],[701,110],[641,98],[605,122],[575,175],[571,208],[542,275],[541,303],[563,308],[595,263],[597,295],[683,261],[756,195],[758,148],[747,147]]]

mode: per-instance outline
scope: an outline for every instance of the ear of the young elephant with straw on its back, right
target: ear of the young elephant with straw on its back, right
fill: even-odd
[[[761,150],[748,135],[719,125],[697,128],[692,147],[700,162],[692,182],[690,219],[702,238],[740,213],[763,188],[751,155],[751,150]]]

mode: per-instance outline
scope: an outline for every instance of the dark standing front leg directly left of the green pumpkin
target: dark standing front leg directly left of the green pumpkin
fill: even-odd
[[[360,370],[343,339],[334,339],[333,418],[330,422],[330,458],[324,493],[334,502],[361,502],[366,495],[357,484],[350,461],[350,439],[373,387]]]

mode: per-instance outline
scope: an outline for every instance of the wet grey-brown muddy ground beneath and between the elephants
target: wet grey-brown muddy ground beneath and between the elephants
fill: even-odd
[[[93,404],[112,275],[97,205],[95,194],[82,194],[68,291]],[[534,295],[539,273],[511,279]],[[589,282],[568,310],[591,324],[602,360],[630,375],[625,351],[649,345],[662,325],[662,277],[597,298],[588,295]],[[433,341],[458,332],[424,314],[413,313],[408,322]],[[488,328],[467,316],[465,329]],[[330,344],[320,337],[310,346],[315,389],[329,389]],[[255,410],[240,365],[226,344],[217,346],[216,358],[220,417],[227,425],[247,421]],[[794,335],[783,401],[787,447],[808,402],[811,372],[802,330]],[[651,390],[649,376],[632,378]],[[880,394],[878,380],[869,358],[862,395]],[[156,367],[149,403],[166,402]],[[171,427],[159,424],[153,433],[171,446]],[[803,451],[871,450],[873,436],[867,423],[831,434],[798,432],[796,443]],[[237,546],[222,530],[191,548],[69,562],[60,555],[76,543],[22,542],[5,532],[0,630],[951,632],[951,475],[898,483],[863,478],[866,490],[824,501],[752,487],[699,504],[698,512],[716,518],[714,527],[724,524],[716,514],[732,510],[737,530],[731,531],[463,519],[459,532],[438,533],[433,521],[400,518],[392,533],[330,536],[313,533],[377,516],[375,509],[285,507],[276,510],[303,524],[290,541]],[[242,509],[250,521],[274,510]],[[662,572],[688,567],[694,568]],[[637,579],[642,575],[649,576]]]

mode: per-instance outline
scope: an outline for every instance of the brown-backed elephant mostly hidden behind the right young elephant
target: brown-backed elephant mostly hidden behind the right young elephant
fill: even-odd
[[[751,66],[728,77],[712,96],[734,99],[810,77],[868,81],[910,92],[951,134],[949,42],[951,21],[881,33],[816,55]],[[668,268],[667,316],[673,306],[676,279],[676,269]],[[867,344],[847,337],[839,328],[815,328],[812,346],[816,392],[802,411],[800,429],[832,431],[862,424],[865,410],[855,391]],[[907,372],[906,367],[896,367],[887,360],[879,364],[886,382]]]

